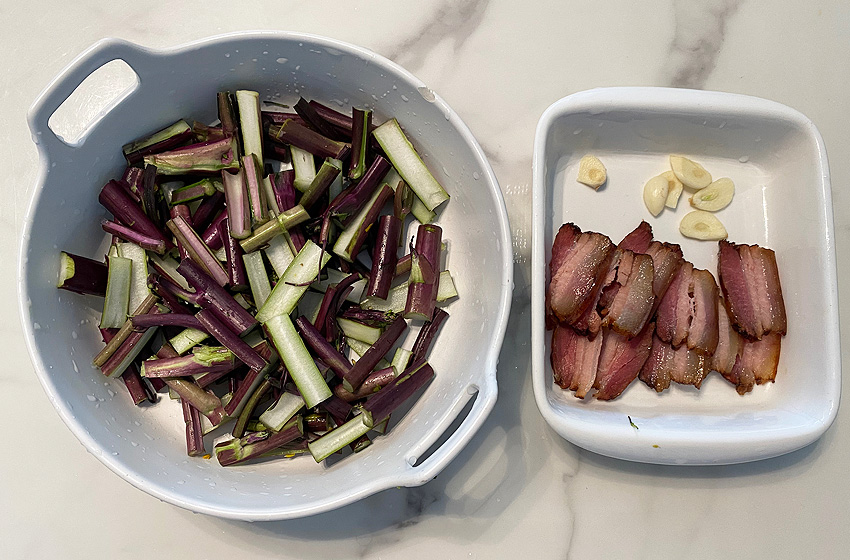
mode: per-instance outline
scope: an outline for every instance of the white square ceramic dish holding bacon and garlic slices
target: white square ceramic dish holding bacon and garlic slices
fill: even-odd
[[[576,182],[578,161],[588,153],[608,169],[608,184],[598,192]],[[643,204],[643,185],[670,168],[671,153],[735,182],[734,200],[717,214],[730,240],[776,251],[788,312],[776,383],[739,396],[712,373],[699,391],[674,383],[659,395],[635,381],[616,400],[585,402],[552,379],[544,327],[552,240],[572,221],[618,242],[645,219],[656,239],[680,244],[685,258],[716,278],[717,243],[678,231],[691,210],[687,191],[675,211],[657,218]],[[835,246],[826,152],[809,119],[772,101],[719,92],[577,93],[540,119],[533,197],[534,395],[564,438],[611,457],[704,465],[787,453],[830,426],[841,389]]]

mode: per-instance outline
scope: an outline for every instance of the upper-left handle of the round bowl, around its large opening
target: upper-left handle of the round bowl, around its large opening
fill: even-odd
[[[121,39],[103,39],[86,49],[44,88],[30,107],[27,122],[33,141],[38,144],[40,150],[54,155],[82,145],[85,142],[85,135],[76,145],[60,140],[48,125],[50,116],[92,72],[104,64],[113,60],[123,60],[136,73],[140,84],[148,74],[147,70],[152,69],[156,63],[155,56],[153,51]],[[139,84],[136,85],[136,89]],[[108,107],[106,111],[114,109],[127,97],[127,93],[120,95],[118,103]]]

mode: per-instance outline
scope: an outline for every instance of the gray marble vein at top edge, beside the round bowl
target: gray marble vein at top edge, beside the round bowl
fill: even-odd
[[[484,19],[490,0],[447,1],[432,16],[413,28],[407,38],[384,51],[384,55],[416,71],[428,53],[440,42],[450,39],[456,51],[466,42]]]

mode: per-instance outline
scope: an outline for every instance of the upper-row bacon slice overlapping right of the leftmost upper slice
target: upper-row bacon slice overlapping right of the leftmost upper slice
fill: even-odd
[[[610,304],[602,310],[602,325],[632,338],[641,332],[652,313],[655,303],[655,294],[652,292],[655,269],[649,255],[633,253],[628,249],[618,251],[621,257],[615,282],[619,287]],[[606,288],[606,295],[608,291]]]

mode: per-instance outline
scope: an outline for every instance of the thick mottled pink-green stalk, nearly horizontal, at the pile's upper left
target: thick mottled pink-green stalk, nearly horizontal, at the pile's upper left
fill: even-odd
[[[160,175],[188,173],[218,173],[223,169],[239,169],[238,148],[233,137],[213,142],[201,142],[145,156],[148,165],[155,165]]]

